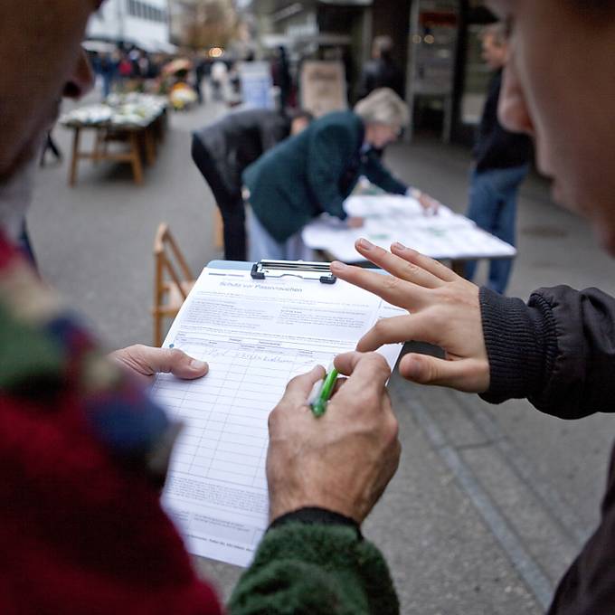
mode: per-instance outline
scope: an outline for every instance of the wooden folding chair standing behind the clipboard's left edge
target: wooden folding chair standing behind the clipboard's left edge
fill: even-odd
[[[177,316],[179,308],[194,286],[194,275],[179,250],[168,224],[158,226],[154,241],[154,345],[163,343],[165,318]]]

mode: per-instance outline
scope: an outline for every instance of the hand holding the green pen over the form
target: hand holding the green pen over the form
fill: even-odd
[[[270,414],[271,519],[317,506],[360,524],[397,469],[401,447],[385,389],[388,364],[376,353],[348,353],[335,365],[347,378],[333,389],[324,414],[316,419],[307,401],[325,378],[322,367],[294,378]]]

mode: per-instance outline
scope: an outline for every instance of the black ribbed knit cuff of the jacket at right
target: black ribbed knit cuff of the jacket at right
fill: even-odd
[[[550,311],[486,288],[479,297],[490,372],[489,388],[480,397],[501,403],[542,391],[555,335]]]

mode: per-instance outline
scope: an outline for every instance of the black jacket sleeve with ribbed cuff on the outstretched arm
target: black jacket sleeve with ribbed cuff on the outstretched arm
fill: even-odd
[[[527,305],[480,290],[490,385],[562,419],[615,412],[615,299],[598,289],[536,290]]]

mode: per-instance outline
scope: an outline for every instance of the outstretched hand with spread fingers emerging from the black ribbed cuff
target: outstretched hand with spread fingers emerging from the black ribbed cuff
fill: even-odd
[[[366,352],[410,341],[438,345],[445,352],[444,359],[405,355],[400,374],[416,383],[440,384],[469,393],[487,391],[489,362],[478,287],[437,260],[400,243],[394,243],[391,252],[364,239],[355,247],[365,259],[391,275],[340,262],[331,263],[332,273],[410,312],[380,320],[359,341],[357,350]]]

